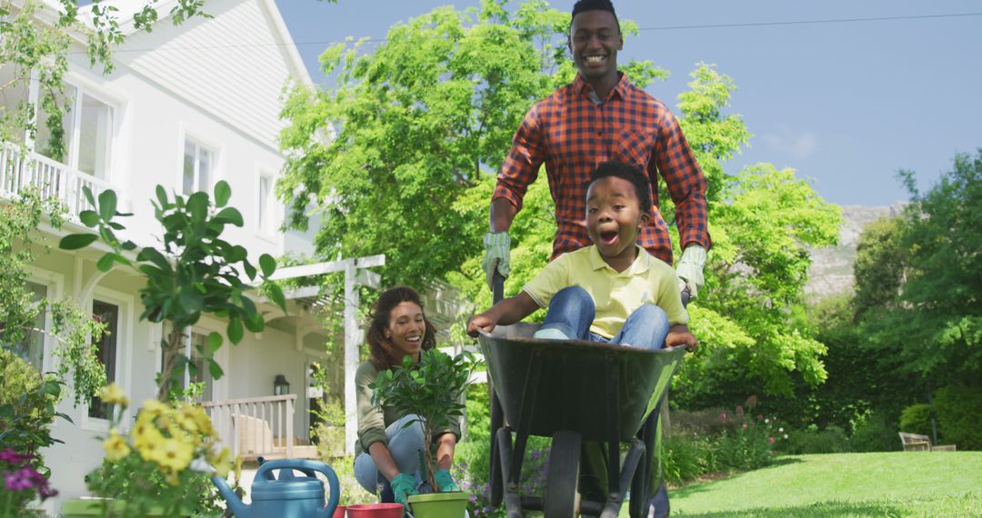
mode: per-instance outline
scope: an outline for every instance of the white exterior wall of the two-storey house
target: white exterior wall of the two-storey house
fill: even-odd
[[[161,230],[150,200],[156,197],[157,184],[168,192],[180,190],[185,138],[191,136],[216,152],[212,182],[229,182],[233,192],[230,204],[240,210],[245,220],[241,229],[227,227],[224,238],[245,246],[253,262],[262,253],[279,256],[312,250],[310,233],[285,236],[276,230],[284,210],[279,202],[271,207],[270,214],[277,215],[271,232],[263,232],[258,225],[259,176],[276,178],[284,162],[275,143],[282,127],[278,120],[279,92],[286,79],[296,74],[285,63],[286,54],[295,50],[284,49],[289,45],[267,44],[281,41],[272,32],[279,15],[270,18],[271,5],[274,4],[266,0],[218,0],[209,2],[206,8],[214,19],[198,19],[181,27],[165,21],[154,32],[129,39],[117,54],[116,70],[108,76],[90,72],[83,52],[70,55],[67,80],[114,108],[107,180],[121,196],[121,212],[133,213],[120,220],[128,228],[122,237],[141,246],[159,242]],[[243,41],[263,45],[229,45]],[[167,45],[203,50],[152,52]],[[222,45],[229,48],[206,49]],[[70,225],[68,230],[79,232],[80,228]],[[49,237],[56,242],[58,236]],[[116,378],[134,402],[122,421],[125,432],[133,423],[139,402],[155,396],[154,377],[160,368],[159,340],[163,330],[160,325],[138,321],[142,312],[138,294],[142,279],[122,270],[101,276],[95,268],[100,255],[91,248],[77,252],[53,250],[47,254],[38,250],[34,266],[37,279],[53,286],[49,296],[72,297],[85,308],[91,308],[93,297],[121,306]],[[267,315],[274,317],[274,313]],[[226,340],[216,355],[225,375],[215,383],[213,398],[270,395],[273,379],[283,374],[291,383],[291,391],[298,394],[294,434],[306,439],[306,366],[318,353],[317,348],[298,350],[293,328],[278,328],[246,334],[236,346]],[[202,319],[195,329],[224,335],[225,325]],[[311,339],[316,341],[307,336],[303,343]],[[55,346],[54,339],[47,338],[47,369],[55,366]],[[104,451],[99,438],[107,432],[105,421],[87,417],[84,404],[75,407],[67,398],[60,410],[74,424],[57,421],[52,436],[65,442],[44,452],[52,472],[52,487],[60,492],[43,504],[43,509],[51,514],[60,509],[64,499],[87,494],[83,477],[100,465]]]

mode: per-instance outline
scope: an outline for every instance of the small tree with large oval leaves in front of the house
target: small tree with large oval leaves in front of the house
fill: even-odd
[[[207,192],[194,192],[188,197],[175,194],[173,200],[163,186],[157,185],[153,200],[154,214],[162,228],[160,248],[139,248],[132,240],[123,240],[117,232],[126,228],[116,219],[131,216],[116,210],[116,193],[105,190],[94,199],[88,187],[83,188],[88,203],[95,210],[79,214],[82,224],[95,233],[72,233],[62,238],[59,246],[76,250],[96,240],[112,251],[103,254],[96,263],[102,272],[116,264],[132,268],[146,284],[139,289],[143,313],[140,320],[167,322],[170,329],[161,339],[163,366],[157,378],[157,398],[167,400],[177,395],[186,369],[191,376],[196,367],[184,353],[184,337],[202,314],[228,321],[226,335],[239,343],[245,330],[261,333],[265,328],[262,313],[248,296],[259,274],[261,289],[271,301],[286,313],[286,300],[279,285],[269,281],[276,271],[276,260],[269,254],[259,256],[259,270],[248,260],[248,251],[221,238],[225,227],[243,226],[242,214],[226,206],[232,196],[228,182],[218,181],[214,200]],[[137,248],[139,250],[137,251]],[[133,254],[136,253],[136,259]],[[246,275],[248,283],[242,278]],[[222,377],[222,369],[214,353],[222,346],[223,337],[212,332],[203,345],[196,344],[198,353],[208,360],[213,379]]]

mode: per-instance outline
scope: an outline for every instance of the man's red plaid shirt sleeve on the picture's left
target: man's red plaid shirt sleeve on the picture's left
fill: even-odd
[[[501,167],[491,199],[506,198],[521,210],[521,199],[538,176],[543,161],[545,145],[539,128],[539,105],[535,105],[525,114],[512,138],[512,150]]]

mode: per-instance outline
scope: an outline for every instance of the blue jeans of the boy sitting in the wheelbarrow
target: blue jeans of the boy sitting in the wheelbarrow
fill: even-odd
[[[549,311],[540,329],[555,329],[576,339],[618,343],[649,350],[662,348],[665,337],[669,334],[669,317],[665,310],[654,304],[644,304],[635,309],[627,316],[621,332],[610,339],[590,333],[590,325],[595,316],[593,298],[585,289],[579,286],[564,287],[549,302]]]

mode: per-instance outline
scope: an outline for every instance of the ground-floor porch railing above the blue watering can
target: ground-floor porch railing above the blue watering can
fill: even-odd
[[[206,401],[223,446],[246,460],[294,458],[294,403],[297,394]]]

